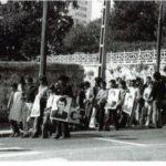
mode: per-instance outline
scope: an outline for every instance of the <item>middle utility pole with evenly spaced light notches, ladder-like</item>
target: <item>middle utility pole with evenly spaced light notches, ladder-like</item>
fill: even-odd
[[[102,14],[102,25],[101,25],[101,39],[100,39],[100,68],[98,76],[105,80],[106,70],[106,38],[107,38],[107,23],[110,15],[111,2],[110,0],[104,0],[103,14]]]

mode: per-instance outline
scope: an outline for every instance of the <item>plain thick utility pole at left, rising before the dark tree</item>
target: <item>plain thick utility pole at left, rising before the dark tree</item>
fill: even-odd
[[[43,1],[43,17],[42,17],[42,32],[41,32],[41,48],[40,48],[40,75],[45,75],[46,70],[46,54],[45,54],[45,33],[46,33],[46,15],[48,15],[48,1]]]

